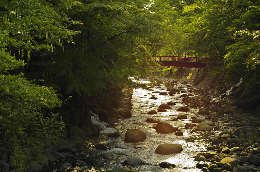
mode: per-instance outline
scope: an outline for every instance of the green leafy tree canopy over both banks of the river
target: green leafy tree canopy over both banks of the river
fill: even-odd
[[[110,101],[129,76],[151,73],[156,62],[145,56],[208,56],[229,78],[258,71],[250,82],[258,84],[259,5],[0,0],[0,144],[8,142],[15,159],[33,137],[59,137],[62,114],[55,107],[67,111],[62,102],[69,96],[75,107],[81,97]]]

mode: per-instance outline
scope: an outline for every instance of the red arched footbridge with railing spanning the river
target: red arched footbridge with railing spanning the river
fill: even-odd
[[[145,58],[149,60],[148,57]],[[204,68],[207,63],[206,58],[198,59],[190,56],[153,56],[153,58],[160,61],[161,66]]]

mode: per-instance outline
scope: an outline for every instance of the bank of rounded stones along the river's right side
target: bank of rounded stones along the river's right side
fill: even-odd
[[[174,85],[176,80],[168,79],[170,84]],[[185,83],[186,81],[182,81]],[[188,88],[189,89],[189,88]],[[174,88],[172,89],[174,90]],[[168,90],[170,91],[170,90]],[[175,90],[176,91],[176,90]],[[260,112],[257,109],[247,110],[248,107],[236,108],[230,105],[228,99],[215,99],[209,98],[207,90],[195,89],[195,92],[201,92],[197,98],[192,98],[187,95],[183,99],[183,103],[187,107],[201,108],[199,114],[209,114],[209,111],[218,112],[216,116],[205,117],[205,121],[212,122],[211,125],[218,125],[219,123],[230,123],[236,129],[226,130],[220,133],[218,136],[209,137],[209,142],[213,145],[226,143],[226,147],[219,146],[207,147],[207,152],[199,153],[194,161],[211,162],[210,165],[206,163],[198,163],[196,168],[202,169],[202,171],[221,172],[221,171],[234,171],[234,172],[256,172],[260,171]],[[205,92],[206,91],[206,92]],[[184,92],[183,92],[184,93]],[[182,95],[182,97],[184,97]],[[246,101],[246,100],[244,100]],[[248,100],[250,101],[250,100]],[[248,104],[248,102],[244,102]],[[232,103],[231,103],[232,104]],[[250,105],[249,105],[250,106]],[[224,114],[224,117],[222,116]],[[194,121],[195,122],[195,121]],[[202,121],[200,124],[204,123]],[[199,124],[199,125],[200,125]],[[206,131],[211,129],[205,122],[203,127],[197,125],[197,131]],[[193,126],[192,126],[193,127]],[[193,130],[195,131],[195,130]],[[196,131],[195,131],[196,132]],[[211,131],[206,134],[214,134]]]

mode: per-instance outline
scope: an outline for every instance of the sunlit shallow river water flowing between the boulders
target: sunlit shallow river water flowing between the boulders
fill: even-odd
[[[148,83],[148,81],[139,81],[139,83]],[[191,87],[188,84],[178,84],[182,86],[183,90],[187,90],[187,87]],[[166,87],[153,88],[154,91],[166,91]],[[183,93],[181,93],[183,94]],[[197,93],[192,92],[194,96]],[[209,93],[206,93],[209,94]],[[149,99],[151,96],[156,96],[158,99]],[[185,171],[185,172],[195,172],[201,171],[196,169],[195,165],[198,163],[194,160],[194,156],[198,153],[206,151],[206,147],[210,145],[206,141],[208,137],[206,132],[192,131],[195,128],[185,128],[186,123],[191,123],[191,117],[196,117],[204,119],[205,115],[198,115],[198,108],[190,108],[188,112],[177,111],[177,109],[184,104],[179,97],[180,95],[174,94],[174,96],[161,96],[159,94],[154,94],[152,91],[144,90],[142,88],[135,88],[133,90],[133,109],[132,118],[121,120],[116,126],[105,127],[104,123],[98,121],[97,116],[92,114],[92,123],[102,125],[101,134],[98,137],[90,138],[83,143],[82,152],[77,154],[77,160],[82,160],[86,162],[87,166],[82,166],[78,168],[78,171],[106,171],[114,168],[126,168],[134,171],[150,172],[150,171]],[[157,112],[156,115],[148,115],[148,111],[158,109],[159,105],[162,103],[175,102],[176,105],[171,106],[172,109],[167,109],[167,112]],[[152,107],[152,108],[150,108]],[[179,121],[170,121],[172,118],[176,118],[179,114],[187,115],[188,119]],[[211,113],[211,116],[216,114]],[[173,127],[179,128],[184,135],[176,136],[174,133],[170,134],[160,134],[154,129],[156,123],[145,122],[148,117],[158,119],[162,122],[167,122]],[[124,140],[124,135],[128,129],[140,129],[146,134],[146,139],[138,143],[126,142]],[[214,128],[212,127],[214,131]],[[108,137],[107,135],[113,132],[118,132],[121,136],[117,138]],[[215,131],[216,134],[219,131]],[[214,135],[213,135],[214,136]],[[181,144],[183,151],[178,154],[171,155],[160,155],[155,153],[155,149],[158,145],[162,143],[172,143]],[[96,144],[104,144],[109,149],[95,149]],[[221,146],[221,145],[220,145]],[[122,162],[131,157],[139,157],[148,165],[143,166],[124,166]],[[176,168],[161,168],[158,163],[167,161],[169,163],[176,164]],[[69,165],[68,165],[69,166]],[[68,167],[72,170],[72,167]],[[67,170],[67,171],[71,171]],[[75,168],[74,168],[75,170]],[[66,171],[63,169],[63,171]],[[76,170],[77,171],[77,170]]]

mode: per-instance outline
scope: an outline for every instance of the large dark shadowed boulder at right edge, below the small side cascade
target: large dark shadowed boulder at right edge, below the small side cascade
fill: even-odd
[[[254,96],[250,98],[243,98],[237,102],[237,108],[242,108],[244,110],[252,110],[260,101],[259,96]]]

